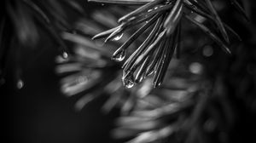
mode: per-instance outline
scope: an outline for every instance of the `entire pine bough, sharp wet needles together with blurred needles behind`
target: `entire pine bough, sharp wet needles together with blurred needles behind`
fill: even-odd
[[[68,28],[60,29],[68,27],[65,18],[61,19],[65,16],[63,8],[57,7],[60,13],[47,7],[60,5],[57,2],[16,2],[19,8],[26,3],[41,17],[20,16],[23,13],[15,14],[10,6],[9,14],[12,20],[26,18],[21,20],[24,25],[16,26],[21,43],[34,37],[34,33],[22,27],[34,27],[32,18],[42,22],[61,47],[66,47],[63,40],[73,43],[73,52],[68,57],[64,49],[64,57],[56,58],[59,63],[56,72],[62,76],[61,91],[78,98],[75,104],[78,110],[91,100],[108,95],[103,112],[110,112],[114,107],[121,112],[113,137],[131,143],[228,140],[234,111],[225,94],[224,79],[208,77],[204,66],[193,61],[188,52],[191,47],[200,47],[207,41],[204,56],[212,55],[214,44],[229,56],[232,42],[241,40],[236,31],[221,20],[215,1],[90,0],[118,6],[97,9],[86,18],[79,17],[74,26],[76,33]],[[248,19],[236,0],[230,2]],[[75,1],[63,3],[84,14]],[[127,6],[137,9],[131,11]],[[50,13],[53,11],[55,13]],[[121,14],[124,16],[117,20]],[[2,27],[4,23],[3,20]],[[107,27],[109,30],[104,31]],[[207,35],[207,40],[198,30]],[[101,38],[105,38],[104,43]],[[214,44],[208,44],[209,39]],[[113,48],[118,49],[113,51]]]

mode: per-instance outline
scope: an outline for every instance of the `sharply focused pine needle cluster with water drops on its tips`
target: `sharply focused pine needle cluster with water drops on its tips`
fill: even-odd
[[[90,1],[96,3],[104,3],[103,1]],[[119,26],[116,26],[108,31],[103,31],[92,37],[92,39],[106,37],[105,43],[110,39],[119,37],[123,32],[128,31],[132,26],[143,24],[140,30],[136,31],[123,45],[117,49],[113,54],[113,60],[118,61],[125,60],[126,50],[131,43],[134,43],[138,37],[142,34],[151,31],[145,41],[139,46],[133,54],[130,55],[125,64],[123,65],[123,83],[127,88],[131,88],[133,84],[140,83],[145,77],[148,77],[148,73],[154,73],[154,87],[160,86],[163,83],[163,79],[166,74],[166,67],[172,60],[172,54],[174,51],[178,51],[179,39],[178,33],[182,30],[177,30],[178,26],[183,22],[183,17],[187,18],[196,26],[199,26],[208,37],[219,45],[220,48],[228,54],[230,51],[230,36],[227,34],[227,30],[232,31],[236,36],[236,31],[230,29],[222,22],[218,13],[211,1],[166,1],[166,0],[154,0],[154,1],[106,1],[106,3],[119,3],[119,4],[141,4],[143,6],[135,9],[129,14],[125,14],[119,18]],[[204,21],[196,21],[196,16],[202,16],[207,22],[211,23],[215,27],[208,28],[204,25]],[[219,35],[219,33],[221,33]],[[237,36],[240,39],[239,36]],[[156,40],[156,41],[155,41]],[[154,42],[155,41],[155,42]],[[167,43],[168,41],[168,43]],[[166,50],[168,49],[168,50]],[[169,50],[170,49],[170,50]],[[162,58],[166,57],[167,58]],[[145,61],[146,60],[146,61]],[[145,61],[145,62],[143,62]],[[146,68],[146,66],[149,66]]]

